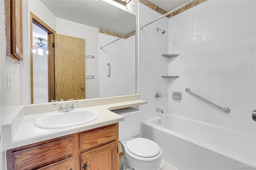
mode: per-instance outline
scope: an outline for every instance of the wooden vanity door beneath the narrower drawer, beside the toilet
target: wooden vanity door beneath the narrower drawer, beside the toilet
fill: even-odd
[[[117,170],[119,160],[117,144],[112,142],[99,148],[81,154],[81,170],[87,165],[86,170]]]

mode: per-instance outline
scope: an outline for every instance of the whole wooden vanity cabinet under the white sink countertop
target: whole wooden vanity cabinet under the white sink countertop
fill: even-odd
[[[7,150],[8,170],[118,170],[118,123]]]

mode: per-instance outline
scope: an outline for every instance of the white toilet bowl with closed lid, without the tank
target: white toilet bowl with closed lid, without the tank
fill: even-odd
[[[124,152],[123,170],[157,170],[162,160],[162,149],[146,138],[128,138],[120,141]]]

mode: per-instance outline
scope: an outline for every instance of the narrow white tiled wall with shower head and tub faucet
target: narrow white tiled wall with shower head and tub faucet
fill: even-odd
[[[158,12],[139,2],[139,26],[161,16]],[[156,31],[156,28],[166,30],[165,34]],[[156,109],[164,109],[168,113],[168,79],[161,75],[168,74],[168,58],[161,54],[168,54],[168,18],[162,18],[138,31],[139,34],[139,89],[141,100],[148,101],[147,105],[140,106],[141,121],[156,117]],[[160,91],[162,97],[156,101],[154,94]]]

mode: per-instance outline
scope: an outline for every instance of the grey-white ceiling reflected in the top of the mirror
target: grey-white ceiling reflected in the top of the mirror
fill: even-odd
[[[57,17],[126,35],[135,30],[135,16],[101,0],[41,0]]]

